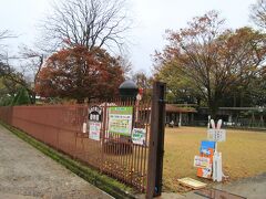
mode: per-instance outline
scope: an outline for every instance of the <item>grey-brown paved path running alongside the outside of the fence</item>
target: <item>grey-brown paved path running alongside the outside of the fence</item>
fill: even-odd
[[[0,125],[0,199],[111,198]]]

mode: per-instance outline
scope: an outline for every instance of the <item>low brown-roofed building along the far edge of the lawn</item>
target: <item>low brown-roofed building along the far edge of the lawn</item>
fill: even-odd
[[[151,108],[145,108],[141,114],[146,119],[150,117]],[[143,112],[143,109],[141,111]],[[207,126],[208,107],[198,107],[195,104],[166,104],[166,126]],[[266,108],[258,107],[219,107],[217,118],[223,119],[225,127],[236,128],[266,128]]]

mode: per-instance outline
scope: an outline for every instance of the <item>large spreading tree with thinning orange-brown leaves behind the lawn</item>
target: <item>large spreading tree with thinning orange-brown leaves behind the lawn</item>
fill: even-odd
[[[265,35],[249,28],[229,31],[215,11],[194,18],[188,27],[168,31],[170,44],[156,53],[160,67],[178,70],[205,100],[213,117],[223,96],[250,76],[265,61]]]

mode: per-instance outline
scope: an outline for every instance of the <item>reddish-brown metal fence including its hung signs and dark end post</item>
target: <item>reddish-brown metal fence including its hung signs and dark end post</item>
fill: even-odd
[[[142,192],[161,195],[165,84],[155,85],[152,104],[0,107],[0,118]]]

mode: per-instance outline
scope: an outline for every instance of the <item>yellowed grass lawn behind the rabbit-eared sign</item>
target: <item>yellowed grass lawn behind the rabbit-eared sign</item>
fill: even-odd
[[[193,159],[200,154],[201,140],[206,137],[206,128],[165,129],[163,184],[166,190],[183,191],[178,178],[200,179]],[[226,142],[218,143],[218,151],[222,151],[223,171],[229,176],[229,181],[266,172],[266,132],[227,129]]]

